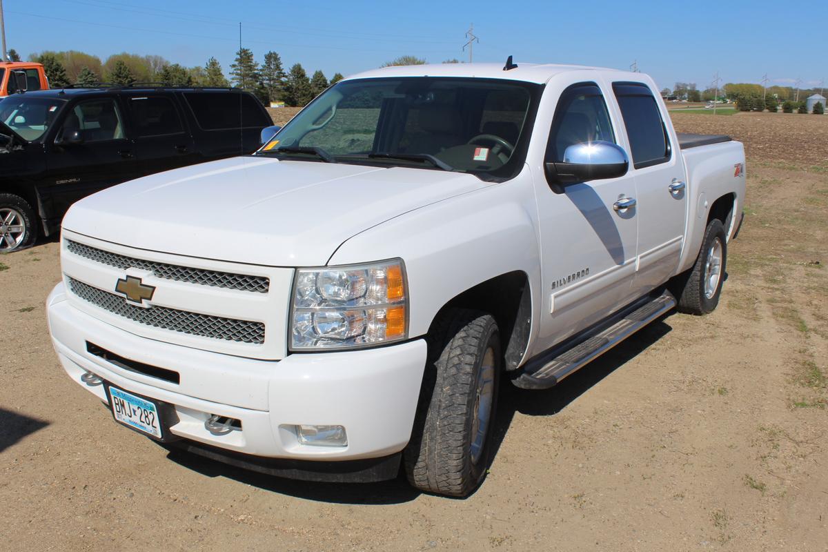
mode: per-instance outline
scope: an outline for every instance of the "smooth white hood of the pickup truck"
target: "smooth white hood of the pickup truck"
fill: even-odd
[[[325,265],[367,228],[486,185],[440,170],[235,157],[90,195],[71,207],[63,228],[191,257]]]

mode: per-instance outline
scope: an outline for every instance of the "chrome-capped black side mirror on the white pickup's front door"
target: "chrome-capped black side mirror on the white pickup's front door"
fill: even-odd
[[[619,178],[627,174],[627,152],[612,142],[584,142],[569,146],[564,161],[546,163],[546,180],[551,185],[568,185],[587,180]]]

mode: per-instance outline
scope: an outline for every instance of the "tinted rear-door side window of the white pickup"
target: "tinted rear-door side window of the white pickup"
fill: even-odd
[[[670,160],[670,142],[667,128],[658,111],[656,98],[645,84],[614,83],[624,126],[627,127],[629,146],[636,169],[658,165]]]

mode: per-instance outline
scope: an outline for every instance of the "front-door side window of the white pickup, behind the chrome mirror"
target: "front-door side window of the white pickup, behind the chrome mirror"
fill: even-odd
[[[613,142],[607,104],[593,83],[574,84],[561,94],[546,145],[546,161],[561,162],[566,148],[584,142]]]

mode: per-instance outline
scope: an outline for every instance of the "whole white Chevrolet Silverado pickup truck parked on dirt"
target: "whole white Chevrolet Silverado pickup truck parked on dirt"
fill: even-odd
[[[498,386],[715,309],[742,220],[742,144],[641,73],[389,67],[268,138],[80,200],[47,303],[115,420],[282,477],[473,492]]]

